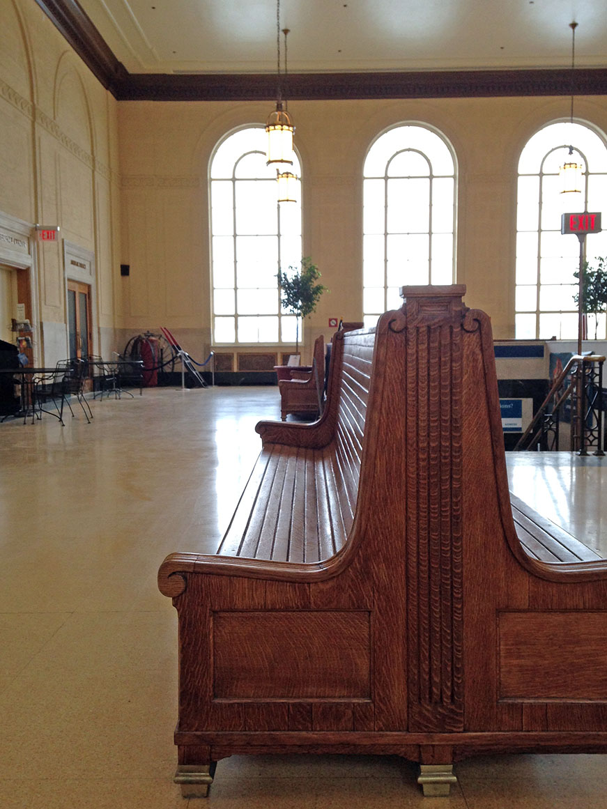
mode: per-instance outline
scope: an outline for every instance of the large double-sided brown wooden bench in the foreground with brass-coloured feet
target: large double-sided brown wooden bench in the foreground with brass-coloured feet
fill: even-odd
[[[320,420],[257,426],[219,553],[163,562],[185,795],[232,754],[399,755],[448,794],[465,756],[607,751],[607,562],[517,535],[490,322],[463,294],[406,287],[337,335]]]

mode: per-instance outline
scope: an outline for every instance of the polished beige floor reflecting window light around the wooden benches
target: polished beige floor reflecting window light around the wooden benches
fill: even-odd
[[[91,425],[77,411],[65,428],[0,424],[0,809],[188,805],[172,783],[176,614],[156,571],[171,551],[214,551],[257,456],[254,425],[279,415],[276,388],[92,407]],[[552,463],[546,497],[563,510],[574,475],[588,511],[589,472]],[[527,491],[533,464],[520,460]],[[189,807],[607,809],[606,768],[603,755],[485,756],[456,766],[451,798],[422,798],[414,765],[394,758],[234,756]]]

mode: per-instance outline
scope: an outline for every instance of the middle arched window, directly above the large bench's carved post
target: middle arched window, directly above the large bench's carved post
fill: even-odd
[[[455,212],[455,160],[444,138],[421,124],[377,138],[363,171],[365,324],[401,306],[401,286],[453,283]]]

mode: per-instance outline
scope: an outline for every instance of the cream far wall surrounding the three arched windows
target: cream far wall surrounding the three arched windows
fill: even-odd
[[[329,316],[362,314],[362,182],[367,148],[384,129],[422,121],[455,149],[459,171],[457,281],[487,311],[495,336],[514,336],[516,166],[524,142],[566,118],[566,98],[293,101],[304,175],[304,254],[332,290],[311,317],[306,343],[330,334]],[[207,167],[224,133],[261,123],[272,104],[121,102],[124,324],[168,325],[210,339]],[[607,98],[576,98],[575,116],[607,132]],[[204,345],[202,345],[204,344]]]

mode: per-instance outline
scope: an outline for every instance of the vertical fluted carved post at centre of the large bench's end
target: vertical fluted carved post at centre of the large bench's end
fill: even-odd
[[[405,295],[410,730],[463,726],[461,295]]]

